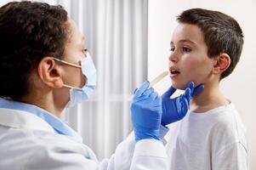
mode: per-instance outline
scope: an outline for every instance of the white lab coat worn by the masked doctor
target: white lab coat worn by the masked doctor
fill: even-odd
[[[26,111],[0,108],[1,170],[162,170],[168,169],[162,142],[134,133],[117,146],[110,159],[98,161],[85,144],[54,132],[42,118]]]

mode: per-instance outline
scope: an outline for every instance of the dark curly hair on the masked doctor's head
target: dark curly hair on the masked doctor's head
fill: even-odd
[[[67,20],[60,5],[23,1],[0,8],[0,97],[19,99],[28,94],[29,75],[40,60],[62,56]]]

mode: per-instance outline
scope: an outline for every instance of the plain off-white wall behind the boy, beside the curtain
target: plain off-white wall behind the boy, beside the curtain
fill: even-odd
[[[244,0],[149,0],[149,80],[168,69],[168,50],[175,16],[187,8],[208,8],[233,16],[245,36],[242,58],[234,73],[221,83],[227,98],[236,105],[247,127],[250,169],[256,169],[256,1]],[[162,94],[169,86],[168,78],[156,85]]]

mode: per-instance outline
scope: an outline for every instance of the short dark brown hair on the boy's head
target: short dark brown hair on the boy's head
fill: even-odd
[[[185,10],[177,17],[179,23],[198,26],[208,47],[208,56],[213,58],[221,53],[230,55],[230,66],[220,79],[227,77],[238,63],[243,45],[242,29],[235,19],[219,11],[202,8]]]

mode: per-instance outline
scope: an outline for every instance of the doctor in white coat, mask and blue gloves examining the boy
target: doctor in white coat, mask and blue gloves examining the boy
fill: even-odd
[[[168,128],[162,125],[185,116],[193,83],[170,99],[174,88],[159,97],[145,82],[131,105],[134,133],[99,162],[60,119],[65,107],[88,99],[96,85],[83,44],[60,6],[16,2],[0,8],[0,169],[167,169],[162,137]]]

